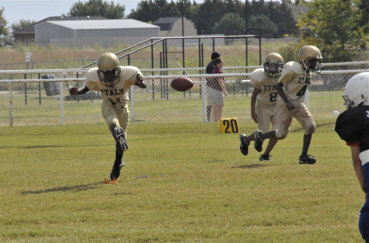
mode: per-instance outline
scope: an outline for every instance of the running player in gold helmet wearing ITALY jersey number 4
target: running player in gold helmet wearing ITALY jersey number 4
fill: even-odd
[[[266,133],[255,131],[254,146],[257,151],[262,151],[264,139],[286,138],[292,118],[304,128],[304,138],[302,153],[299,158],[300,164],[315,164],[315,157],[308,155],[311,136],[315,132],[315,122],[310,111],[303,104],[305,92],[310,86],[311,75],[319,75],[323,65],[320,63],[322,56],[315,46],[304,46],[298,54],[299,62],[287,62],[283,67],[276,89],[280,96],[277,103],[277,115],[279,117],[279,127]]]

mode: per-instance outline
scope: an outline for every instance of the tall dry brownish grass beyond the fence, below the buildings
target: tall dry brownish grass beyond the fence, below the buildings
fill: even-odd
[[[276,42],[262,44],[262,62],[263,58],[270,52],[279,52],[280,48],[287,44]],[[140,48],[142,46],[138,46]],[[68,69],[79,68],[87,65],[104,52],[118,52],[128,48],[128,45],[117,44],[111,48],[102,48],[101,46],[86,46],[85,48],[76,47],[60,47],[60,46],[40,46],[40,45],[17,45],[14,49],[0,49],[0,65],[3,70],[20,70],[27,69],[25,63],[25,53],[31,52],[33,63],[28,65],[28,69]],[[135,48],[135,49],[137,49]],[[134,50],[134,49],[133,49]],[[130,50],[130,51],[133,51]],[[197,46],[185,47],[185,66],[199,67],[199,49]],[[212,46],[204,46],[204,66],[210,61],[210,54],[213,51]],[[221,53],[225,66],[245,66],[246,65],[246,47],[245,44],[233,44],[217,46],[216,51]],[[160,64],[160,53],[163,52],[162,45],[156,44],[154,47],[154,58],[156,59],[156,67]],[[182,47],[168,47],[169,67],[179,67],[177,63],[182,65]],[[179,52],[179,53],[177,53]],[[124,54],[124,53],[123,53]],[[123,55],[122,54],[122,55]],[[151,49],[145,48],[130,55],[130,65],[138,66],[141,69],[151,68]],[[127,65],[127,58],[121,60],[121,65]],[[248,46],[248,65],[259,65],[259,45],[250,44]]]

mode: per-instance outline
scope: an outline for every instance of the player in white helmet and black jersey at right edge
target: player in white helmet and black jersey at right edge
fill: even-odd
[[[351,147],[352,164],[365,193],[359,231],[365,242],[369,242],[369,72],[352,77],[343,97],[348,109],[337,117],[334,130]]]

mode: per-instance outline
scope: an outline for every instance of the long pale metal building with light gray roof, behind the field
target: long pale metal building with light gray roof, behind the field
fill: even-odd
[[[133,19],[45,21],[35,25],[35,41],[40,45],[107,47],[136,44],[152,37],[160,37],[158,26]]]

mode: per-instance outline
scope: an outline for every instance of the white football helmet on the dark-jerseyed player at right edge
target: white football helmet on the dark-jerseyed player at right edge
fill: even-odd
[[[348,80],[342,97],[348,108],[369,105],[369,72],[356,74]]]

